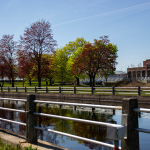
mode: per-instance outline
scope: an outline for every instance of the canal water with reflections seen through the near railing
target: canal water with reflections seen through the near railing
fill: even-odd
[[[1,107],[14,108],[14,109],[25,109],[25,104],[23,102],[4,102],[1,103]],[[101,122],[108,122],[113,124],[121,124],[121,110],[116,110],[115,115],[113,115],[112,110],[109,109],[96,109],[94,113],[91,111],[91,108],[88,107],[77,107],[76,110],[73,110],[72,107],[63,106],[61,109],[57,105],[48,105],[43,106],[37,104],[37,112],[54,114],[60,116],[81,118],[86,120],[95,120]],[[0,117],[10,120],[15,120],[19,122],[26,123],[25,113],[18,112],[9,112],[0,110]],[[74,121],[67,121],[61,119],[55,119],[50,117],[37,117],[37,125],[47,129],[53,129],[56,131],[61,131],[109,144],[113,144],[113,141],[107,139],[106,137],[106,127],[84,124]],[[139,118],[139,128],[149,129],[150,127],[150,114],[141,113],[141,118]],[[4,128],[22,135],[26,134],[26,128],[22,125],[0,121],[0,128]],[[59,146],[69,148],[71,150],[112,150],[108,147],[103,147],[100,145],[92,144],[89,142],[77,140],[74,138],[50,133],[47,131],[38,130],[38,138]],[[150,134],[139,133],[139,144],[141,150],[147,150],[150,148]],[[121,145],[121,141],[119,141]]]

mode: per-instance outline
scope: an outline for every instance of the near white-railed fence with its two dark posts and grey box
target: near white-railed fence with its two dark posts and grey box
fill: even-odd
[[[8,121],[12,123],[17,123],[20,125],[26,126],[26,131],[27,131],[27,140],[28,142],[33,142],[36,141],[35,139],[28,139],[29,137],[32,137],[35,132],[34,129],[40,129],[40,130],[45,130],[48,132],[53,132],[53,133],[58,133],[61,135],[85,140],[88,142],[92,142],[95,144],[103,145],[103,146],[108,146],[111,148],[114,148],[114,145],[79,137],[76,135],[71,135],[51,129],[45,129],[36,126],[36,116],[46,116],[46,117],[53,117],[53,118],[58,118],[58,119],[65,119],[65,120],[71,120],[71,121],[77,121],[77,122],[83,122],[83,123],[89,123],[93,125],[101,125],[101,126],[107,126],[107,138],[114,140],[116,147],[118,147],[118,140],[122,139],[123,142],[123,148],[128,149],[134,149],[135,146],[138,147],[137,141],[138,139],[138,132],[144,132],[144,133],[150,133],[149,129],[142,129],[138,128],[138,113],[141,112],[147,112],[150,113],[150,109],[145,109],[145,108],[137,108],[138,106],[138,101],[137,99],[134,98],[124,98],[123,99],[123,104],[122,104],[122,125],[117,125],[117,124],[110,124],[110,123],[105,123],[105,122],[98,122],[98,121],[92,121],[92,120],[85,120],[85,119],[79,119],[79,118],[72,118],[72,117],[65,117],[65,116],[58,116],[58,115],[52,115],[52,114],[45,114],[45,113],[37,113],[36,110],[36,103],[47,103],[47,104],[58,104],[58,105],[72,105],[72,106],[82,106],[82,107],[91,107],[91,108],[105,108],[105,109],[120,109],[121,107],[119,106],[106,106],[106,105],[93,105],[93,104],[80,104],[80,103],[66,103],[66,102],[54,102],[54,101],[41,101],[41,100],[36,100],[35,95],[28,95],[27,100],[25,99],[13,99],[13,98],[0,98],[0,100],[12,100],[12,101],[22,101],[26,102],[26,107],[27,110],[17,110],[17,109],[10,109],[10,108],[4,108],[0,107],[2,110],[8,110],[8,111],[16,111],[16,112],[21,112],[21,113],[27,113],[28,118],[27,124],[21,123],[21,122],[16,122],[8,119],[3,119],[0,118],[2,121]],[[130,126],[130,127],[128,127]],[[29,130],[27,130],[29,129]],[[134,130],[133,130],[134,129]],[[135,132],[138,131],[138,132]],[[129,133],[129,135],[127,135]],[[29,136],[30,135],[30,136]],[[36,137],[36,136],[33,136]],[[37,138],[37,137],[36,137]],[[138,139],[138,140],[137,140]],[[127,143],[127,144],[126,144]],[[121,147],[119,147],[121,149]]]

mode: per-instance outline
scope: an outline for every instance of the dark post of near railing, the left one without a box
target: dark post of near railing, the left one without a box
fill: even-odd
[[[36,103],[32,101],[36,99],[35,95],[27,95],[27,114],[26,114],[26,141],[28,143],[37,143],[37,132],[33,126],[36,126],[37,120],[33,112],[36,112]]]

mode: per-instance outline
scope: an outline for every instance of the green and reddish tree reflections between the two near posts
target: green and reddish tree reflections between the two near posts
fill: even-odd
[[[59,109],[56,107],[47,108],[47,107],[41,107],[41,106],[37,107],[37,111],[42,112],[42,113],[47,113],[47,114],[81,118],[81,119],[86,119],[86,120],[116,123],[116,121],[112,119],[112,115],[92,113],[88,111],[78,111],[78,110],[73,111],[70,109]],[[45,128],[51,128],[57,131],[113,144],[112,141],[106,139],[106,127],[85,124],[85,123],[80,123],[80,122],[75,122],[75,121],[62,120],[62,119],[41,117],[41,116],[38,117],[37,122],[39,126],[42,126]],[[40,131],[40,134],[38,136],[40,139],[43,140],[44,134],[42,132],[43,131]],[[96,144],[88,143],[85,141],[79,141],[74,138],[66,138],[66,139],[72,140],[72,141],[78,141],[79,144],[84,144],[90,149],[102,149],[101,146],[96,145]],[[63,142],[65,143],[67,141],[65,140]]]

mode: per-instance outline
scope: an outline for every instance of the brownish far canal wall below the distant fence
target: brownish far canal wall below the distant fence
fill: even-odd
[[[0,97],[27,99],[27,94],[35,94],[37,100],[118,106],[122,106],[123,98],[137,98],[139,104],[150,105],[150,96],[3,92]]]

